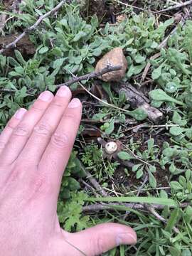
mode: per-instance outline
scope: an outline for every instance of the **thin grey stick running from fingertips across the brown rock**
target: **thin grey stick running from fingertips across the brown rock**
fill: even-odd
[[[87,75],[82,75],[80,77],[74,77],[71,80],[69,80],[68,82],[64,82],[60,85],[56,85],[56,88],[59,88],[63,85],[70,86],[70,85],[73,85],[73,83],[80,82],[82,80],[89,80],[91,78],[98,78],[100,75],[104,75],[106,73],[110,73],[112,71],[117,71],[117,70],[120,70],[120,69],[122,69],[121,65],[117,65],[117,66],[107,65],[106,68],[104,68],[103,70],[100,70],[99,72],[92,72],[92,73],[89,73]]]

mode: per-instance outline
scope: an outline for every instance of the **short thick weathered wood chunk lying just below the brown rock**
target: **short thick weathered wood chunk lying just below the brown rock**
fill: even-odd
[[[163,113],[157,110],[155,107],[151,107],[149,105],[149,99],[147,99],[142,92],[139,92],[128,82],[121,83],[119,86],[114,85],[112,88],[117,93],[124,92],[127,102],[129,102],[133,108],[139,107],[146,111],[149,119],[151,119],[152,122],[158,123],[163,117]]]

